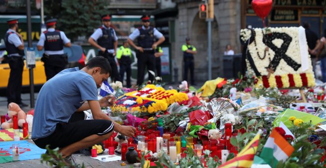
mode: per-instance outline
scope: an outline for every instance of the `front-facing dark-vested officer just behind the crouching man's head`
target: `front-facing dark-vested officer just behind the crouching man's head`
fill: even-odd
[[[111,16],[102,16],[102,26],[90,36],[88,42],[99,49],[98,56],[103,56],[108,59],[112,68],[112,81],[120,81],[120,75],[118,72],[118,66],[116,60],[114,59],[117,53],[118,38],[116,32],[111,25]],[[97,43],[95,42],[97,41]]]

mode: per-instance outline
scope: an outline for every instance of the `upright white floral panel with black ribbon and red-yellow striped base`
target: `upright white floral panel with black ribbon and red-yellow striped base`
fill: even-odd
[[[264,87],[315,85],[305,31],[302,27],[243,29],[246,64]]]

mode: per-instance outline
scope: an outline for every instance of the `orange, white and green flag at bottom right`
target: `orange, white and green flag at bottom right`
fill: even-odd
[[[285,161],[294,151],[294,148],[275,129],[269,135],[260,154],[266,163],[275,168],[279,161]]]

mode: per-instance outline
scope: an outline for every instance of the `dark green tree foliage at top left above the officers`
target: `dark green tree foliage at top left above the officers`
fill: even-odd
[[[58,19],[57,29],[71,40],[89,37],[101,23],[101,15],[109,14],[108,0],[45,0],[45,15]]]

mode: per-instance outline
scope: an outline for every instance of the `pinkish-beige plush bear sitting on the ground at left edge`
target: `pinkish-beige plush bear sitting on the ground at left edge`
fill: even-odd
[[[9,103],[8,105],[8,117],[7,122],[1,124],[2,129],[8,129],[13,127],[12,117],[18,116],[18,126],[23,127],[23,123],[26,123],[26,113],[16,103]]]

